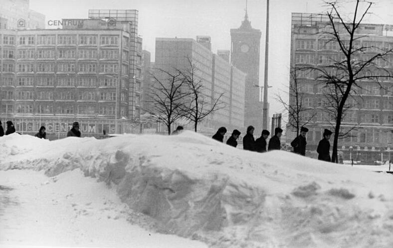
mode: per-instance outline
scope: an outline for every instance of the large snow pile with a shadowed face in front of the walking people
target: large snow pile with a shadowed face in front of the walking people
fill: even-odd
[[[393,247],[391,175],[193,132],[50,142],[15,134],[0,148],[2,170],[80,169],[149,217],[143,227],[210,247]]]

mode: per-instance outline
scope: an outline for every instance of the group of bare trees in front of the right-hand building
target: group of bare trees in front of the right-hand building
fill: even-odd
[[[299,135],[300,127],[310,123],[316,113],[313,108],[304,104],[304,93],[299,87],[298,73],[312,73],[315,82],[323,85],[324,111],[330,117],[330,120],[327,121],[334,128],[332,161],[336,163],[338,162],[338,140],[347,137],[351,130],[357,128],[356,126],[349,130],[341,128],[347,111],[354,107],[353,102],[355,101],[348,101],[348,99],[355,99],[360,95],[359,90],[365,88],[363,83],[365,79],[369,82],[372,81],[381,89],[387,90],[381,83],[381,79],[393,78],[392,69],[381,66],[381,62],[385,63],[385,61],[392,59],[389,56],[393,54],[393,49],[360,42],[368,37],[368,35],[361,35],[360,29],[373,2],[356,0],[353,14],[349,19],[340,13],[338,2],[326,2],[330,6],[330,10],[327,12],[329,22],[323,28],[325,31],[320,32],[319,35],[327,42],[338,44],[340,55],[330,58],[332,62],[329,65],[291,68],[291,84],[288,92],[290,102],[287,103],[285,99],[278,96],[278,100],[288,113],[289,125],[296,129],[297,135]],[[370,50],[374,52],[370,53]],[[311,114],[304,115],[306,112]]]

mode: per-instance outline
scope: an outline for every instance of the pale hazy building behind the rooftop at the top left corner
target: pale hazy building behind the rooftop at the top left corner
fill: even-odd
[[[29,8],[29,0],[2,0],[0,29],[45,28],[45,15]]]

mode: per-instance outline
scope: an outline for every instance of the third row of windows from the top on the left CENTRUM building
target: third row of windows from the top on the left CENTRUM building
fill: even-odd
[[[96,63],[80,63],[78,72],[97,72]],[[128,71],[128,66],[124,65],[125,72]],[[54,63],[37,63],[35,72],[54,72]],[[4,63],[2,66],[3,72],[15,72],[14,64]],[[16,72],[34,72],[34,64],[18,64]],[[57,63],[57,72],[75,72],[74,63]],[[118,73],[117,64],[100,64],[100,73]],[[140,75],[139,75],[140,76]]]

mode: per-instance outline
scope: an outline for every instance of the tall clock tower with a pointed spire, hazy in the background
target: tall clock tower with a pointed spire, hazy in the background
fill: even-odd
[[[251,27],[247,10],[239,28],[230,29],[231,63],[247,74],[244,95],[244,126],[254,126],[256,136],[262,131],[262,102],[259,101],[259,46],[261,31]]]

